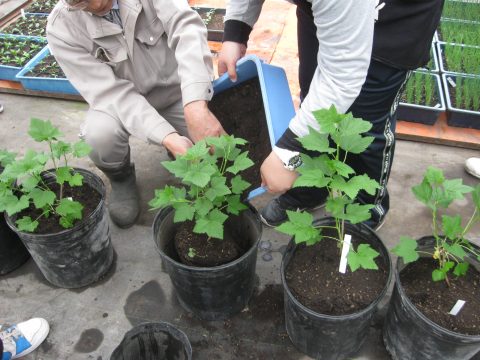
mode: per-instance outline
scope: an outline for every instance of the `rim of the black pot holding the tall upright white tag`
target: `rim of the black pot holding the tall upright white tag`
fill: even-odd
[[[320,221],[327,222],[328,220],[331,220],[331,219],[332,219],[331,217],[328,217],[328,218],[321,219]],[[387,281],[385,283],[385,286],[383,290],[380,292],[380,294],[378,294],[377,298],[370,303],[370,305],[368,305],[366,308],[361,309],[357,312],[354,312],[351,314],[344,314],[344,315],[327,315],[327,314],[317,313],[316,311],[313,311],[312,309],[306,307],[300,301],[298,301],[298,299],[293,295],[290,288],[288,287],[287,279],[285,278],[285,268],[287,267],[287,264],[285,264],[285,256],[284,256],[282,258],[282,264],[280,266],[280,274],[282,278],[283,289],[286,291],[288,297],[290,298],[291,301],[295,303],[296,306],[298,306],[300,309],[302,309],[302,311],[308,313],[311,316],[314,316],[317,318],[332,319],[332,320],[361,317],[363,316],[363,314],[370,312],[375,306],[377,306],[380,300],[385,296],[390,286],[390,283],[392,281],[392,273],[393,273],[392,259],[390,257],[390,253],[387,247],[385,246],[383,240],[380,238],[380,236],[378,236],[378,234],[372,228],[370,228],[367,225],[364,225],[364,224],[351,224],[351,225],[354,227],[364,227],[365,229],[368,230],[368,232],[372,232],[380,240],[379,241],[380,244],[385,248],[386,254],[387,254],[386,260],[388,261],[388,276],[387,276]],[[295,247],[298,246],[297,244],[295,244],[295,239],[293,237],[290,239],[289,245],[292,243],[294,244]]]

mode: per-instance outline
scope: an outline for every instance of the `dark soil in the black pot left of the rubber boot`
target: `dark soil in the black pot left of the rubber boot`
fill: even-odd
[[[57,183],[50,184],[50,189],[57,194],[60,193],[60,186]],[[97,208],[102,196],[90,185],[84,183],[82,186],[71,187],[68,184],[63,186],[63,197],[71,197],[73,200],[80,202],[83,205],[82,215],[83,219],[89,216]],[[36,219],[41,215],[42,211],[35,209],[33,205],[30,205],[28,209],[23,210],[18,214],[18,219],[23,216],[30,216],[32,219]],[[39,225],[35,229],[36,234],[55,234],[60,231],[64,231],[65,228],[59,224],[60,217],[58,215],[50,215],[48,218],[42,217],[39,219]],[[77,220],[81,221],[81,220]],[[76,222],[76,223],[77,223]],[[75,223],[75,224],[76,224]],[[74,224],[74,225],[75,225]]]

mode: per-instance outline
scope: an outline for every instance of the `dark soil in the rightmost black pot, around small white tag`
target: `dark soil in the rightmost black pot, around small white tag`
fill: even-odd
[[[480,273],[472,266],[466,276],[450,275],[445,281],[432,281],[436,262],[420,258],[400,272],[400,281],[410,301],[426,317],[445,329],[467,335],[480,335]],[[449,312],[457,300],[466,301],[458,315]]]

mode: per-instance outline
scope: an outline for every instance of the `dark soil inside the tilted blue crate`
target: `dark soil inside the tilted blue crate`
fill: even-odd
[[[272,147],[258,77],[214,95],[208,107],[228,134],[248,141],[243,150],[254,165],[241,173],[252,184],[245,193],[259,187],[260,166]]]

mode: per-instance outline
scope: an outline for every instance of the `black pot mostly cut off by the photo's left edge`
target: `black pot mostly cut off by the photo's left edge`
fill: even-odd
[[[0,213],[0,275],[8,274],[30,258],[22,241],[7,225]]]

